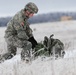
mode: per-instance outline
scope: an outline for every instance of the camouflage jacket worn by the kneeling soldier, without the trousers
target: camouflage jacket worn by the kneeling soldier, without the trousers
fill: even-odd
[[[24,16],[23,10],[18,12],[7,24],[5,38],[17,36],[20,39],[29,39],[32,36],[32,30],[29,27],[27,18]]]

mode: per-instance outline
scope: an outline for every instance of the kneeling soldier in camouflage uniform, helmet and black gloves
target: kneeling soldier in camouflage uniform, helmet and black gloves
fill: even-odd
[[[21,59],[30,58],[30,50],[37,45],[34,39],[32,30],[29,27],[27,20],[38,12],[38,7],[29,2],[25,8],[19,11],[8,22],[5,31],[5,40],[7,42],[8,52],[0,56],[1,60],[7,60],[16,55],[17,47],[22,48]]]

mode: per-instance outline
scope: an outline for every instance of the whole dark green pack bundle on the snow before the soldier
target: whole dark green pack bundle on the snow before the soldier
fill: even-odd
[[[42,43],[38,43],[34,49],[34,57],[38,56],[53,56],[55,59],[64,57],[64,44],[59,39],[54,39],[53,34],[48,38],[44,37]]]

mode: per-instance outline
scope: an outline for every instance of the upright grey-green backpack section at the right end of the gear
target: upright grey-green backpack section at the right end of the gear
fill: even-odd
[[[64,57],[64,44],[59,39],[54,39],[53,34],[50,37],[44,37],[44,47],[48,50],[50,56]]]

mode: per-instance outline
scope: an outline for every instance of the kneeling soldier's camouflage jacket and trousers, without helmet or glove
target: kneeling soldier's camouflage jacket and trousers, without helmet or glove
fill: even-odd
[[[10,59],[16,55],[17,47],[23,48],[21,57],[24,57],[25,53],[31,49],[32,44],[28,39],[33,35],[27,20],[28,18],[24,15],[24,10],[22,9],[7,24],[5,40],[8,53],[3,55],[5,59]]]

